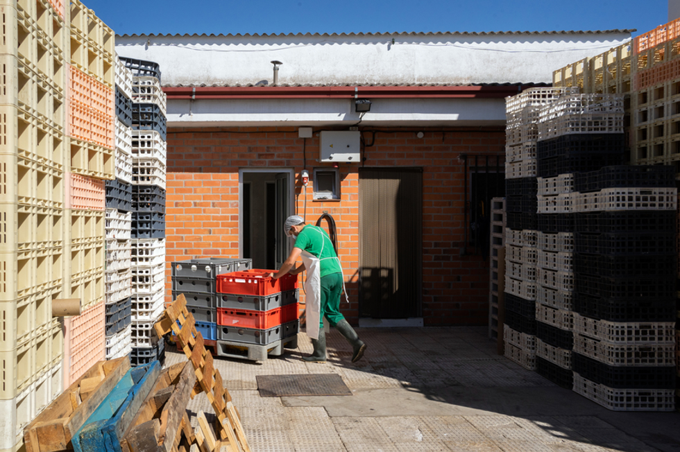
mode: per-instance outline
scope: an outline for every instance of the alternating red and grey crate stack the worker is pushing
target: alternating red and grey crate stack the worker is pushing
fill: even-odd
[[[269,277],[271,270],[217,275],[218,356],[266,360],[297,347],[298,277]]]

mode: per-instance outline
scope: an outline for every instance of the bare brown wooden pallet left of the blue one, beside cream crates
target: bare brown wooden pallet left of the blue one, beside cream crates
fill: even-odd
[[[99,361],[24,428],[26,452],[64,451],[92,412],[130,370],[127,357]]]

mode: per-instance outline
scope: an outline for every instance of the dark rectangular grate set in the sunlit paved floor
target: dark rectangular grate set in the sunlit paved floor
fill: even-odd
[[[352,395],[338,374],[257,375],[261,397]]]

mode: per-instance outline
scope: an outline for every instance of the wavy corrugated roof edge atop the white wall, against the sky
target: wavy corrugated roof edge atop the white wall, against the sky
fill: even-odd
[[[232,35],[229,33],[228,35],[215,35],[215,34],[210,34],[206,35],[205,33],[201,33],[199,35],[198,33],[194,33],[192,35],[189,35],[188,33],[185,34],[155,34],[151,33],[150,35],[144,35],[144,34],[137,34],[135,33],[134,35],[117,35],[118,37],[333,37],[333,36],[393,36],[393,35],[407,35],[407,36],[443,36],[443,35],[453,35],[453,36],[485,36],[485,35],[610,35],[613,33],[633,33],[636,31],[636,28],[624,28],[622,30],[595,30],[595,31],[579,31],[579,30],[563,30],[563,31],[428,31],[428,32],[416,32],[416,31],[396,31],[393,33],[263,33],[262,35],[260,34],[250,34],[250,33],[245,33],[244,35],[241,35],[241,33],[237,33],[236,35]]]

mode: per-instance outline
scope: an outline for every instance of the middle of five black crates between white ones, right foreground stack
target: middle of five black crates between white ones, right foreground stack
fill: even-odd
[[[574,272],[606,278],[673,278],[677,274],[677,255],[607,256],[574,253]]]

